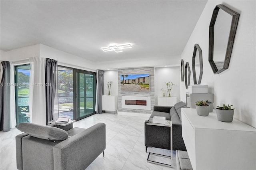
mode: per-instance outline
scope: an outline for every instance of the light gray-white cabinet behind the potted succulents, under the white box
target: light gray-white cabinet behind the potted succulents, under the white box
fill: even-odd
[[[186,108],[196,108],[196,101],[210,101],[214,103],[214,94],[212,93],[186,93]]]

